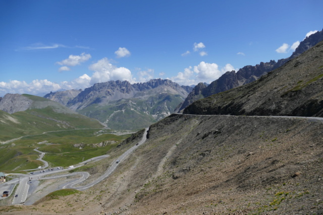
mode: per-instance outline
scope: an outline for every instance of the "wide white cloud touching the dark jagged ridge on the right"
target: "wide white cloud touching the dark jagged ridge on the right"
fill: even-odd
[[[196,66],[185,68],[183,72],[179,72],[171,80],[181,85],[196,85],[199,82],[210,83],[219,79],[226,71],[231,70],[234,70],[234,67],[230,63],[220,69],[216,63],[201,61]]]

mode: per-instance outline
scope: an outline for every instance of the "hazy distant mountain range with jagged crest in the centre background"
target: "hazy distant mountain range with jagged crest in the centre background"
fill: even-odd
[[[76,92],[75,97],[70,91],[63,91],[47,94],[46,98],[96,118],[112,129],[132,130],[147,127],[173,113],[191,90],[189,86],[162,79],[137,84],[109,81]]]

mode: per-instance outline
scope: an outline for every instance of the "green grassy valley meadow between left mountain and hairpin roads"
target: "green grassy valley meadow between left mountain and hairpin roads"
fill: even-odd
[[[0,171],[33,169],[43,165],[37,161],[39,153],[34,149],[38,148],[47,154],[43,158],[52,166],[69,166],[77,164],[96,156],[105,155],[114,149],[118,143],[129,135],[101,134],[97,136],[99,129],[57,131],[41,135],[24,137],[16,140],[14,144],[0,146]],[[47,144],[37,144],[46,141]],[[95,144],[107,142],[106,146],[98,147]],[[50,143],[48,145],[48,143]],[[75,144],[83,144],[79,149]],[[62,154],[64,153],[64,154]]]

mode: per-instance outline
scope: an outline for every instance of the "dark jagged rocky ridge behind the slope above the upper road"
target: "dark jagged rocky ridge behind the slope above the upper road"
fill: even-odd
[[[224,92],[235,87],[242,86],[244,84],[251,83],[261,76],[266,75],[269,71],[272,71],[282,65],[284,65],[289,60],[299,56],[304,51],[313,47],[315,44],[323,40],[323,30],[318,31],[309,37],[306,37],[299,46],[293,52],[293,54],[285,59],[280,59],[277,62],[271,60],[270,62],[260,62],[255,66],[247,65],[239,69],[237,73],[235,71],[227,71],[222,75],[218,80],[213,81],[209,86],[201,89],[201,86],[198,86],[199,90],[193,90],[190,95],[183,102],[178,112],[181,112],[185,107],[192,104],[194,101],[197,101],[201,98],[206,98],[213,94]],[[197,87],[197,86],[196,86]]]

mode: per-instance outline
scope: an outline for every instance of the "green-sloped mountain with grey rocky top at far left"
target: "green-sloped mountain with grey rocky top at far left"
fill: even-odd
[[[0,121],[0,142],[45,131],[103,127],[62,104],[27,94],[0,97]]]

